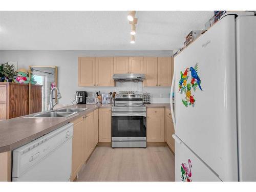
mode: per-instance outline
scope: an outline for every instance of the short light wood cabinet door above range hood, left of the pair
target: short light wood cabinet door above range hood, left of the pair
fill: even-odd
[[[114,57],[114,73],[129,73],[129,57]]]

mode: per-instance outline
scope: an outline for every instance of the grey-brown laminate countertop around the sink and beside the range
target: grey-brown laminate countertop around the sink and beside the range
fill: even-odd
[[[111,108],[111,105],[70,105],[67,108],[87,108],[88,110],[78,112],[67,118],[24,118],[23,116],[0,121],[0,153],[14,150],[80,116],[84,116],[98,108]],[[146,108],[170,108],[169,103],[152,103],[145,104],[145,106]]]

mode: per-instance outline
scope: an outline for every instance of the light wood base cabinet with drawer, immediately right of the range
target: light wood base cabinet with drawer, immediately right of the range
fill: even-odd
[[[163,110],[158,108],[152,109],[159,112]],[[147,114],[148,110],[152,109],[148,108]],[[164,115],[147,115],[146,139],[148,142],[164,142]]]

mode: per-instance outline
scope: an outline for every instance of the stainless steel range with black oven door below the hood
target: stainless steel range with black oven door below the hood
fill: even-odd
[[[112,147],[146,147],[146,107],[142,94],[120,92],[112,106]]]

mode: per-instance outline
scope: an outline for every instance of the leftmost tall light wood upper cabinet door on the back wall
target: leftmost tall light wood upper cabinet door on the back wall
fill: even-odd
[[[96,85],[96,57],[78,57],[78,86]]]

